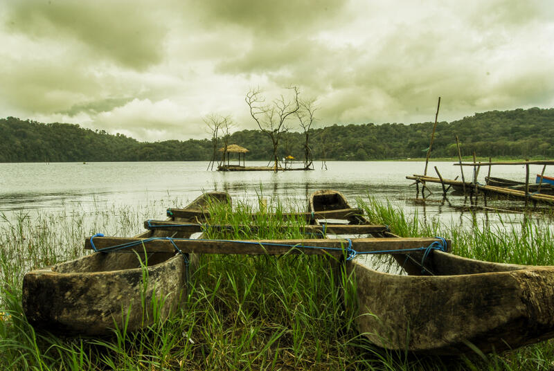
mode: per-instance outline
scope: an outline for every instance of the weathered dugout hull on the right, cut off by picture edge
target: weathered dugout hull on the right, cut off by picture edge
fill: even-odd
[[[373,235],[394,236],[386,230]],[[364,257],[345,262],[356,286],[359,331],[379,347],[459,355],[554,336],[554,266],[483,262],[442,251],[425,259],[421,252],[393,256],[404,273],[377,271]]]

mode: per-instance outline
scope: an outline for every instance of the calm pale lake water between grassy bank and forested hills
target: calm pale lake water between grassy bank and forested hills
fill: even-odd
[[[250,161],[247,165],[262,166],[265,162]],[[328,161],[314,171],[289,172],[213,172],[207,162],[144,162],[144,163],[0,163],[0,212],[8,219],[21,210],[51,212],[80,208],[87,212],[107,206],[138,206],[159,200],[163,207],[175,205],[176,197],[195,199],[201,192],[225,190],[233,199],[256,202],[258,197],[287,200],[305,205],[311,192],[320,189],[340,190],[355,204],[358,197],[368,195],[388,200],[404,208],[407,214],[439,215],[441,219],[457,219],[460,212],[440,202],[440,185],[429,185],[434,194],[425,204],[416,203],[415,188],[406,175],[422,174],[425,162],[418,161]],[[460,174],[452,162],[430,162],[428,174],[436,176],[434,166],[447,179]],[[465,168],[471,179],[471,168]],[[532,165],[530,174],[542,167]],[[485,183],[488,168],[483,168],[478,181]],[[521,165],[498,165],[492,176],[522,180]],[[464,197],[449,195],[449,203],[461,205]],[[161,217],[152,215],[152,217]]]

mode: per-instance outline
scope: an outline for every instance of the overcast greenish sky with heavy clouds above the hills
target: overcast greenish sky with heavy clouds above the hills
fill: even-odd
[[[204,138],[296,85],[318,125],[452,121],[553,107],[553,44],[552,0],[3,0],[0,117]]]

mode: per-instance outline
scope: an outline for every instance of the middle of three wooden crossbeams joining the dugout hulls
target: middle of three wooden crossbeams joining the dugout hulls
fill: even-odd
[[[213,230],[249,230],[255,231],[263,229],[262,226],[257,225],[239,225],[233,226],[231,224],[184,224],[179,221],[166,221],[166,220],[147,220],[144,222],[144,228],[147,229],[157,229],[157,230],[179,230],[179,232],[188,232],[188,233],[197,233],[210,228]],[[292,230],[298,228],[305,233],[332,233],[332,234],[343,234],[343,235],[356,235],[361,233],[380,233],[387,229],[384,225],[349,225],[349,224],[326,224],[324,226],[273,226],[271,228],[278,228],[279,230]]]

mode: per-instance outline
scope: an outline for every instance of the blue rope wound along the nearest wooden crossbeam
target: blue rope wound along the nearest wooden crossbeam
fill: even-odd
[[[188,258],[186,257],[186,253],[183,253],[181,249],[175,244],[175,241],[211,241],[211,242],[233,242],[235,244],[250,244],[250,245],[260,245],[260,242],[256,241],[240,241],[235,239],[189,239],[189,238],[172,238],[172,237],[150,237],[145,239],[139,239],[137,241],[127,242],[125,244],[119,244],[114,246],[108,246],[105,248],[96,248],[94,246],[93,239],[94,237],[104,237],[102,233],[96,233],[96,235],[93,235],[90,238],[90,243],[93,251],[97,253],[107,253],[110,251],[120,251],[125,248],[129,248],[132,246],[139,246],[141,244],[145,244],[147,242],[155,241],[155,240],[166,240],[169,241],[173,247],[175,247],[175,251],[177,253],[181,254],[186,264],[188,264]],[[316,248],[319,250],[326,250],[326,251],[346,251],[346,260],[352,260],[357,255],[369,255],[369,254],[390,254],[390,253],[411,253],[415,251],[424,251],[422,260],[421,260],[421,266],[423,266],[423,263],[429,256],[429,253],[431,253],[432,250],[438,250],[438,251],[447,251],[447,242],[444,237],[435,237],[438,239],[438,241],[431,242],[429,246],[421,246],[421,247],[414,247],[414,248],[398,248],[393,250],[376,250],[376,251],[356,251],[354,248],[352,248],[352,239],[347,238],[346,241],[348,242],[348,246],[346,248],[338,248],[338,247],[326,247],[326,246],[299,246],[298,244],[292,245],[292,244],[276,244],[276,243],[264,243],[263,246],[276,246],[276,247],[289,247],[289,248]],[[263,247],[262,246],[262,247]],[[425,271],[425,268],[424,268]],[[422,271],[422,273],[424,272]]]

